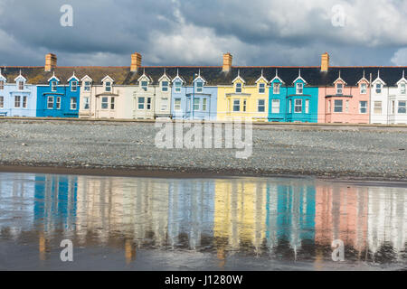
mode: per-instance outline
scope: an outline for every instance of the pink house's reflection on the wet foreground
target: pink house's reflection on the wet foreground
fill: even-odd
[[[368,192],[366,187],[317,185],[316,243],[330,247],[340,239],[358,254],[365,248]]]

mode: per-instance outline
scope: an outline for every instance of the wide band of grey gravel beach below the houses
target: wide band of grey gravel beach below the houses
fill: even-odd
[[[235,149],[159,149],[152,123],[0,121],[0,163],[13,166],[407,179],[407,128],[254,126]]]

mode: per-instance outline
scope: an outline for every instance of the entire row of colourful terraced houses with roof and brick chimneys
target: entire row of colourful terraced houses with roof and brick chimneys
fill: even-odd
[[[0,70],[0,116],[407,124],[405,67],[44,67]]]

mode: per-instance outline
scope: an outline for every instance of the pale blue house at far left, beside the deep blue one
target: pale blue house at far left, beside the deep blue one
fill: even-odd
[[[2,117],[36,117],[37,88],[27,84],[21,73],[14,83],[7,82],[0,70],[0,116]]]

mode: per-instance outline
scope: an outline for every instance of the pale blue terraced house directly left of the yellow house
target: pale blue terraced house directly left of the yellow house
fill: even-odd
[[[191,85],[177,70],[173,79],[171,114],[175,119],[215,120],[217,115],[218,89],[207,86],[201,70],[194,73]]]

